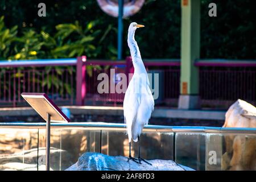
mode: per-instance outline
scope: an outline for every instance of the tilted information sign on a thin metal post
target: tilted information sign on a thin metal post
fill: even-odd
[[[69,118],[45,93],[22,93],[24,100],[46,121],[46,171],[49,171],[51,122],[69,122]]]

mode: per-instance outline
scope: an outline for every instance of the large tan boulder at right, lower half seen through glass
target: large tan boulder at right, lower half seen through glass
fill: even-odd
[[[223,127],[255,127],[256,107],[243,100],[237,100],[229,107]],[[227,134],[226,151],[222,155],[224,170],[256,170],[255,135]]]

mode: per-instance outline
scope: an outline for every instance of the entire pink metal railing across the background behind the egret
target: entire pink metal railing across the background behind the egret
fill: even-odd
[[[179,59],[144,59],[149,73],[159,73],[156,105],[177,106],[180,94]],[[255,60],[196,60],[201,106],[226,109],[238,98],[256,104]],[[22,92],[46,92],[66,105],[121,105],[124,93],[97,91],[100,73],[117,84],[118,73],[133,73],[131,58],[123,61],[77,59],[0,61],[0,105],[19,106]],[[114,74],[110,69],[114,68]],[[113,83],[112,83],[113,82]],[[62,104],[62,105],[63,105]]]

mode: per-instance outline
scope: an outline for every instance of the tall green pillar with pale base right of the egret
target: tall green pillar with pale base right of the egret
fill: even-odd
[[[181,76],[179,109],[199,108],[200,0],[181,0]]]

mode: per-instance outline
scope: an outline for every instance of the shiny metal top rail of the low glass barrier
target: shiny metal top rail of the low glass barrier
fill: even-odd
[[[0,128],[20,128],[20,129],[46,129],[45,122],[0,122]],[[75,129],[86,128],[89,130],[119,130],[126,131],[123,123],[104,123],[104,122],[69,122],[51,123],[52,129]],[[160,132],[187,132],[187,133],[235,133],[235,134],[256,134],[256,128],[249,127],[209,127],[209,126],[166,126],[166,125],[145,125],[143,131]]]

